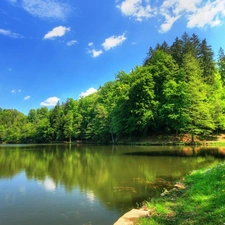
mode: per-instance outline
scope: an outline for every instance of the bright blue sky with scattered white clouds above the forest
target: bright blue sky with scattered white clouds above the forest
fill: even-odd
[[[1,0],[0,108],[79,99],[188,34],[225,49],[224,0]]]

